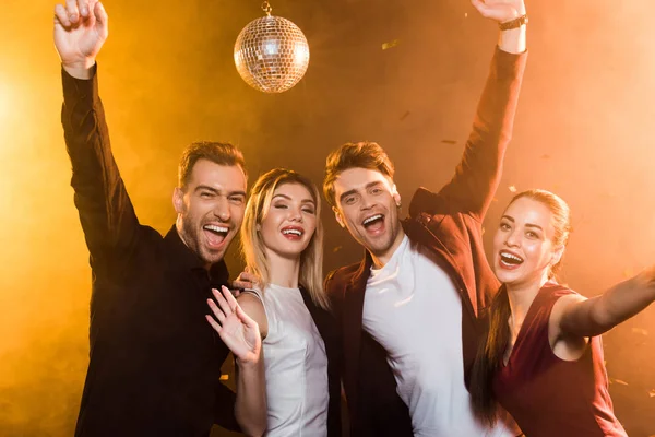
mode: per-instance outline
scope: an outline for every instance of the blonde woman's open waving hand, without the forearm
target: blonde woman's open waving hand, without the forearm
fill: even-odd
[[[237,362],[242,364],[255,364],[260,358],[262,339],[259,326],[239,306],[237,299],[227,287],[222,287],[223,293],[212,290],[216,303],[207,299],[207,305],[216,316],[206,316],[210,324],[218,332],[221,340],[235,354]]]

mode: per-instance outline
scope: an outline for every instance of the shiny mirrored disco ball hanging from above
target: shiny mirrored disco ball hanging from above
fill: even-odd
[[[309,45],[297,25],[269,14],[243,27],[235,44],[235,63],[241,78],[253,88],[282,93],[305,75]]]

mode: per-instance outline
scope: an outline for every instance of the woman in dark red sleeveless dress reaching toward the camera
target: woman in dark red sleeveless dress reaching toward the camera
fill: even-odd
[[[627,436],[614,414],[600,334],[655,300],[655,268],[587,299],[555,273],[569,238],[569,206],[544,190],[519,193],[493,239],[502,283],[473,368],[474,410],[498,404],[528,437]]]

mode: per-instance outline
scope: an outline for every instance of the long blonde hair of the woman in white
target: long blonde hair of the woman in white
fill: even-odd
[[[300,184],[310,192],[315,203],[317,228],[307,248],[300,253],[299,283],[307,288],[318,306],[329,309],[330,300],[323,291],[323,225],[321,223],[321,198],[319,189],[305,176],[286,168],[274,168],[260,176],[250,192],[241,225],[241,253],[250,272],[260,277],[265,288],[271,282],[264,241],[258,224],[266,217],[277,187],[284,184]]]

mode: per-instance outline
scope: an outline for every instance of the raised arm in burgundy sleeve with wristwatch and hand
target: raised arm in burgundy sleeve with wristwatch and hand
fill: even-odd
[[[493,198],[502,173],[502,160],[512,137],[514,115],[527,54],[523,0],[473,0],[483,14],[516,26],[501,29],[491,70],[478,103],[473,131],[453,179],[441,194],[455,200],[464,212],[481,220]],[[512,24],[513,23],[513,24]],[[523,24],[522,24],[523,23]]]

